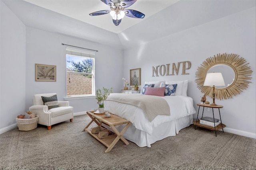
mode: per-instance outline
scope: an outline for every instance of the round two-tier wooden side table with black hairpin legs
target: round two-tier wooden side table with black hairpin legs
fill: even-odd
[[[220,105],[211,106],[210,104],[197,104],[197,106],[199,106],[199,108],[198,108],[198,112],[197,112],[196,121],[193,121],[193,124],[195,125],[195,129],[196,129],[196,126],[199,126],[199,127],[204,127],[204,128],[206,128],[206,129],[214,130],[216,137],[217,137],[216,130],[222,129],[222,131],[223,131],[223,133],[224,133],[223,128],[226,127],[226,125],[222,124],[221,117],[220,117],[220,124],[218,124],[217,126],[214,126],[214,127],[211,127],[211,126],[208,126],[208,125],[203,125],[203,124],[200,123],[200,120],[198,119],[198,114],[199,114],[200,106],[203,107],[202,117],[203,117],[203,115],[204,115],[204,107],[210,107],[210,108],[212,108],[213,119],[214,119],[214,111],[213,111],[213,109],[214,109],[214,108],[219,109],[219,114],[220,114],[220,108],[222,108],[223,106],[220,106]],[[214,122],[214,125],[215,125],[215,122]]]

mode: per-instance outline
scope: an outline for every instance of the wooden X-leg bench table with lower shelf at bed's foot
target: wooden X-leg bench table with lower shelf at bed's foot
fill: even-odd
[[[122,135],[128,129],[128,127],[131,125],[130,121],[128,121],[122,117],[119,117],[117,115],[114,115],[112,113],[111,113],[111,117],[105,117],[105,114],[94,113],[94,111],[87,111],[86,113],[90,116],[90,118],[92,120],[90,121],[90,123],[88,123],[88,125],[86,125],[86,127],[82,131],[87,131],[95,139],[100,141],[100,143],[105,145],[107,147],[107,149],[105,150],[105,153],[110,152],[110,150],[116,145],[116,143],[119,141],[119,139],[121,139],[126,145],[129,145],[128,141],[126,139],[124,139],[124,137]],[[102,126],[102,123],[104,125],[107,125],[108,127],[110,127],[111,131],[114,134],[109,135],[106,138],[100,139],[98,137],[98,133],[93,134],[90,131],[90,129],[88,129],[88,127],[92,124],[92,122],[95,122],[100,127]],[[123,125],[126,123],[127,123],[127,125],[124,127],[124,129],[122,129],[121,132],[119,132],[115,127],[117,125]]]

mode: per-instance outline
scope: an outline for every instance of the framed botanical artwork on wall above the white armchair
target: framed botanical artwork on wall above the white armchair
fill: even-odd
[[[36,64],[36,81],[56,82],[56,66]]]

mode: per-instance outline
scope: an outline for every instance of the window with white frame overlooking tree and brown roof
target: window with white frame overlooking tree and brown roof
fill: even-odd
[[[94,95],[94,52],[66,48],[67,96]]]

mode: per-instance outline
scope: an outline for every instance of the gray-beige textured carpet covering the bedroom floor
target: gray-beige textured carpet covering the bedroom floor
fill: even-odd
[[[2,170],[255,170],[256,140],[191,125],[175,137],[140,148],[122,141],[109,153],[82,129],[88,115],[32,131],[12,129],[0,135]]]

